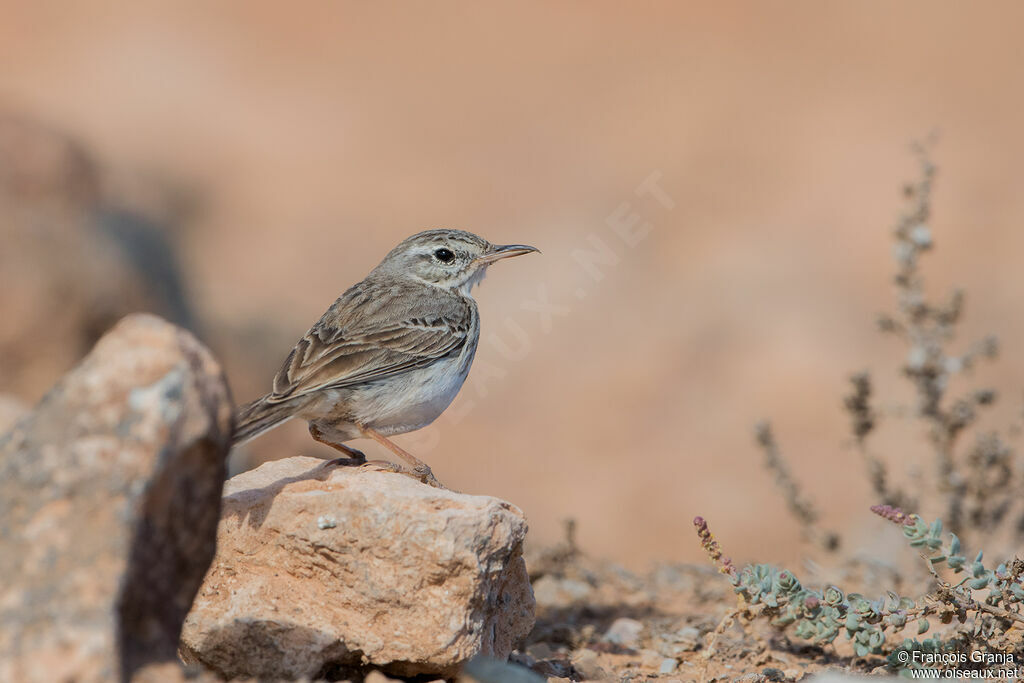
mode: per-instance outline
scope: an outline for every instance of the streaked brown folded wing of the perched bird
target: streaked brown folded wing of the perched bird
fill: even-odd
[[[395,289],[373,294],[356,286],[335,302],[292,349],[268,401],[422,368],[466,343],[472,313],[465,302]]]

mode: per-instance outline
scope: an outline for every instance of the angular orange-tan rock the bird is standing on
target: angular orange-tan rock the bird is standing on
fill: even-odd
[[[494,498],[314,458],[266,463],[225,485],[182,654],[225,678],[450,677],[477,654],[505,659],[534,625],[525,535]]]

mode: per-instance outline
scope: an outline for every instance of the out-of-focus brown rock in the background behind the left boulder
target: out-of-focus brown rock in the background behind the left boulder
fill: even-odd
[[[0,390],[29,400],[128,313],[195,327],[172,230],[101,191],[74,138],[0,112]]]

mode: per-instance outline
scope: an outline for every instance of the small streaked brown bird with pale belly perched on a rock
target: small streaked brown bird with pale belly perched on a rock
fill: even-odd
[[[371,438],[438,485],[426,464],[387,437],[426,427],[449,407],[480,337],[470,290],[496,261],[535,251],[463,230],[403,241],[299,340],[273,390],[239,411],[234,443],[302,418],[315,440],[356,463],[365,457],[344,442]]]

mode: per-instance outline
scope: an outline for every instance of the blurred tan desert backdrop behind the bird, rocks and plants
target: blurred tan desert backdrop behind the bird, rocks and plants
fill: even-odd
[[[877,531],[847,377],[893,401],[890,230],[938,131],[930,289],[971,382],[1024,390],[1024,76],[1012,2],[0,3],[0,393],[38,400],[118,317],[185,325],[236,399],[401,239],[542,256],[476,291],[470,379],[397,437],[535,541],[627,566],[800,543],[753,425],[825,524]],[[920,429],[883,441],[912,462]],[[355,443],[371,457],[373,444]],[[238,471],[332,457],[291,423]],[[905,468],[904,468],[905,470]],[[904,481],[918,476],[897,468]]]

